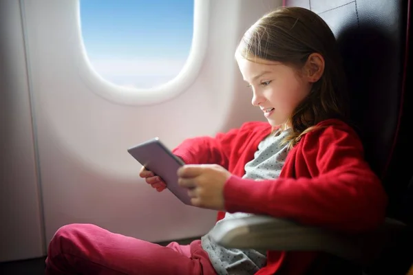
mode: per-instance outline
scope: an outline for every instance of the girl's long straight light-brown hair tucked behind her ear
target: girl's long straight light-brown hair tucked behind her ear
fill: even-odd
[[[283,142],[289,149],[303,135],[317,129],[319,122],[348,118],[346,76],[334,34],[310,10],[279,8],[252,25],[237,47],[237,54],[248,61],[255,62],[256,58],[278,61],[296,69],[301,69],[313,53],[323,56],[324,73],[288,118],[293,131]]]

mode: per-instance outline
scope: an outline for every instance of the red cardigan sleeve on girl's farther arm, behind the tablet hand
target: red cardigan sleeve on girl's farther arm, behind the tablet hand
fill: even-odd
[[[185,164],[219,164],[228,169],[229,157],[235,137],[240,129],[218,133],[215,137],[202,136],[184,140],[172,153]]]

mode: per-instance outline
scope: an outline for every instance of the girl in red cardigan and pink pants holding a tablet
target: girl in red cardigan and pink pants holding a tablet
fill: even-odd
[[[219,219],[268,214],[348,233],[379,225],[387,198],[346,122],[345,76],[328,25],[310,10],[279,8],[249,28],[235,59],[269,123],[191,138],[173,150],[188,164],[177,173],[193,205],[219,210]],[[145,168],[140,176],[165,188]],[[46,274],[297,275],[317,256],[226,249],[208,234],[165,248],[72,224],[54,235]]]

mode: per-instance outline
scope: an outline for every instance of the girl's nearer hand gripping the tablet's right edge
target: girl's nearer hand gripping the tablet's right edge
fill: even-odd
[[[178,184],[188,188],[193,206],[213,210],[224,208],[224,184],[231,177],[217,164],[190,164],[178,169]]]

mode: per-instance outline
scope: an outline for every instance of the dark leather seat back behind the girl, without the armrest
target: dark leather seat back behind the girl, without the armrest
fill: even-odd
[[[284,5],[312,10],[335,34],[348,78],[352,122],[388,194],[388,217],[411,224],[410,0],[284,0]],[[406,274],[412,261],[404,252],[412,245],[410,232],[398,236],[383,252],[383,261],[365,269],[366,274]]]

